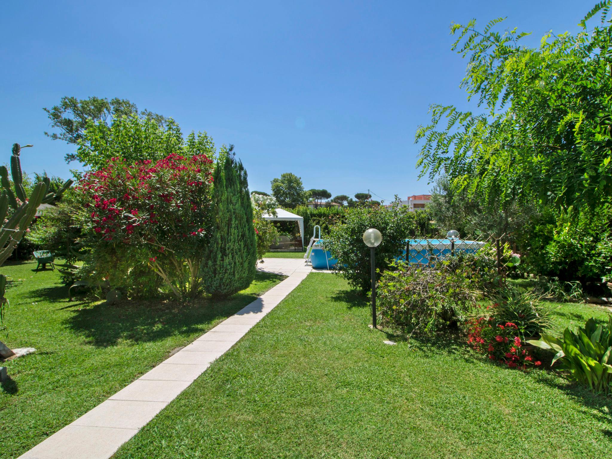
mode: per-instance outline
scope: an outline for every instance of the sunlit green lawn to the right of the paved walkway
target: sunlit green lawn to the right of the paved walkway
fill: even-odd
[[[548,306],[555,333],[605,318]],[[310,274],[116,458],[610,457],[610,398],[462,343],[385,345],[369,321],[344,280]]]

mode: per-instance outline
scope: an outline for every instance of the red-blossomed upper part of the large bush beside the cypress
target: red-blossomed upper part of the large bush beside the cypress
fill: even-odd
[[[85,174],[77,189],[91,197],[86,205],[93,207],[95,233],[127,243],[136,234],[159,233],[143,226],[179,222],[181,233],[202,234],[198,214],[207,210],[211,184],[212,160],[206,155],[171,154],[154,165],[151,160],[127,165],[113,158],[105,168]]]

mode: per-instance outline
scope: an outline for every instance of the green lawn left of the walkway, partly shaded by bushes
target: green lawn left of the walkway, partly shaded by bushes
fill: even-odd
[[[0,389],[3,459],[19,456],[70,424],[282,280],[258,273],[250,288],[225,302],[109,306],[69,302],[58,272],[34,273],[35,267],[2,267],[12,282],[9,335],[0,340],[12,348],[37,349],[4,364],[11,379]]]

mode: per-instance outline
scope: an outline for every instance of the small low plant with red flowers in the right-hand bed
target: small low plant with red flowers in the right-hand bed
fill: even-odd
[[[477,317],[468,321],[468,344],[510,368],[525,369],[527,365],[542,365],[523,348],[518,326],[512,322],[494,324],[492,317]]]

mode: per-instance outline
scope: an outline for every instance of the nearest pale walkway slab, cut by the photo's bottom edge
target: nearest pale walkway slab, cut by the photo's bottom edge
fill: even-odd
[[[108,459],[138,429],[67,425],[19,459]]]

